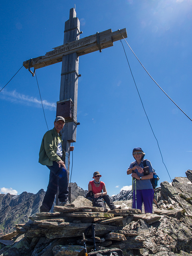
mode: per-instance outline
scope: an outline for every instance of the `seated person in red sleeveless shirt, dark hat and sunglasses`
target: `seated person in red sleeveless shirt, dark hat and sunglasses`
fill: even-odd
[[[107,195],[105,183],[100,180],[100,177],[101,174],[99,172],[93,173],[94,180],[89,182],[86,198],[93,202],[93,206],[105,208],[103,204],[104,199],[110,210],[114,210],[116,209],[116,206],[113,204],[110,196]]]

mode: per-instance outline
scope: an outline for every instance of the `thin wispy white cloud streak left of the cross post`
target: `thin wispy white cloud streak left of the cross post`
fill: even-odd
[[[28,106],[34,106],[36,108],[42,108],[42,103],[44,108],[49,110],[56,109],[56,103],[50,103],[47,100],[38,100],[37,98],[30,97],[28,95],[20,94],[16,90],[8,92],[7,90],[2,90],[0,93],[0,98],[7,100],[9,102],[15,102],[20,104],[25,104]]]

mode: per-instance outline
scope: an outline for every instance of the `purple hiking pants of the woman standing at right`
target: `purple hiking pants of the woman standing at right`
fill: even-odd
[[[137,190],[137,209],[140,209],[142,212],[142,204],[144,204],[145,213],[152,213],[152,200],[154,196],[153,189],[143,189]],[[135,190],[133,190],[133,209],[136,209],[135,204]]]

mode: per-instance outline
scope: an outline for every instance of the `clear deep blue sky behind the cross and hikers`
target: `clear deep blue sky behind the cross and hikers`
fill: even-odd
[[[25,60],[63,44],[65,21],[75,6],[83,31],[80,38],[126,28],[126,40],[146,70],[192,118],[192,0],[10,0],[0,5],[1,89]],[[184,177],[192,168],[192,122],[122,42],[168,172],[172,179]],[[127,168],[135,147],[143,148],[160,182],[170,182],[121,42],[102,53],[80,56],[79,74],[77,121],[81,124],[73,143],[71,182],[87,189],[93,172],[99,171],[110,196],[130,188]],[[51,129],[61,62],[36,70],[36,75]],[[0,110],[0,193],[46,190],[49,170],[38,163],[38,153],[47,126],[36,78],[26,68],[0,92]]]

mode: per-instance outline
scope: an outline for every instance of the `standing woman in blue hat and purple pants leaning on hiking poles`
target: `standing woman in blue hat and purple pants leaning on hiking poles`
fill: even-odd
[[[146,159],[147,173],[144,169],[144,156],[142,148],[133,149],[133,157],[135,161],[132,162],[127,170],[127,174],[131,174],[133,179],[136,179],[136,193],[135,182],[133,182],[133,206],[132,208],[140,209],[142,212],[142,205],[144,204],[145,213],[152,213],[152,201],[154,196],[154,190],[150,179],[153,177],[153,168],[149,160]],[[144,169],[144,170],[143,170]],[[136,197],[135,197],[136,194]]]

